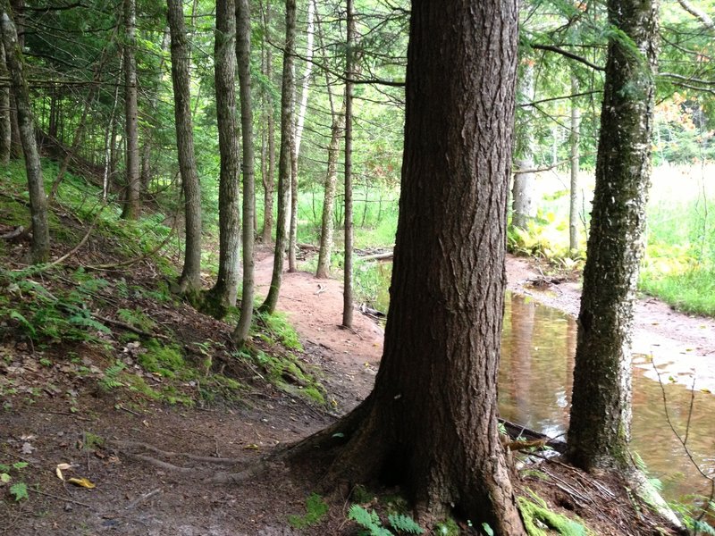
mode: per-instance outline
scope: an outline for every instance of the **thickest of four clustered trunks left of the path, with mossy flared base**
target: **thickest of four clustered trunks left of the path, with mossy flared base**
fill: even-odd
[[[239,145],[236,115],[236,3],[216,0],[214,80],[221,172],[218,192],[219,259],[216,284],[206,296],[208,310],[223,317],[236,305],[239,289]],[[243,100],[241,99],[241,105]],[[244,132],[245,135],[245,132]],[[244,196],[246,194],[244,193]]]

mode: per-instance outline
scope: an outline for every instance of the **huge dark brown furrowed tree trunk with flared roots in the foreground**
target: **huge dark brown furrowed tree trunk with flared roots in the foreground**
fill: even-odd
[[[366,401],[296,448],[339,448],[328,482],[401,484],[419,512],[503,536],[525,533],[496,398],[516,63],[516,2],[413,2],[383,361]]]

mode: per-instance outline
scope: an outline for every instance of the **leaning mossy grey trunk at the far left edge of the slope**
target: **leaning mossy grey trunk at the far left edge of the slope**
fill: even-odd
[[[10,19],[7,4],[2,8],[3,46],[6,52],[10,83],[17,106],[18,126],[22,150],[25,153],[25,170],[28,176],[29,215],[32,220],[32,241],[30,243],[30,259],[32,264],[46,263],[50,256],[50,234],[47,224],[47,198],[42,180],[42,166],[39,162],[38,143],[35,139],[35,125],[32,121],[32,110],[29,104],[29,90],[23,73],[22,51],[18,45],[17,31]]]

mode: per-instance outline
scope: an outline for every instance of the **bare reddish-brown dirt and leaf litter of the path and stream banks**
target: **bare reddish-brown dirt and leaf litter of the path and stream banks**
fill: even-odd
[[[268,252],[259,252],[259,293],[265,293],[271,269]],[[540,272],[513,257],[508,272],[509,289],[576,313],[575,283],[533,289],[529,281],[540,281]],[[157,275],[147,268],[121,277],[150,286]],[[189,306],[141,305],[187,348],[201,340],[226,340],[231,332],[230,325]],[[326,498],[327,514],[315,526],[296,528],[309,524],[306,499],[317,489],[325,467],[271,463],[261,472],[253,470],[276,446],[324,428],[366,397],[382,355],[383,331],[357,311],[354,329],[342,329],[341,283],[318,281],[305,272],[284,273],[279,308],[299,332],[301,366],[324,383],[325,406],[307,401],[296,390],[259,381],[260,371],[249,377],[237,373],[251,385],[240,402],[171,406],[129,389],[98,389],[100,371],[111,361],[88,345],[38,349],[5,332],[0,337],[0,464],[21,463],[9,473],[13,482],[27,483],[29,498],[15,501],[9,485],[0,483],[0,534],[357,534],[357,525],[346,521],[350,503],[345,498]],[[715,351],[711,320],[674,313],[653,300],[640,302],[636,318],[636,339],[666,338],[703,355]],[[5,331],[12,327],[4,319],[0,322]],[[113,337],[118,339],[116,333]],[[127,356],[136,346],[115,348],[117,357],[133,363]],[[144,375],[147,382],[165,381],[156,374]],[[184,387],[200,386],[187,382]],[[63,469],[63,477],[84,477],[96,487],[60,480],[55,471],[60,464],[71,465]],[[519,493],[527,496],[528,490],[535,490],[550,507],[578,515],[596,534],[675,533],[647,508],[636,511],[618,479],[596,480],[559,461],[543,461],[539,472],[548,480],[521,473],[516,480]],[[235,473],[241,475],[239,482],[226,483],[226,475]],[[362,490],[360,500],[357,494],[353,499],[364,503],[375,497],[370,507],[384,512],[389,506],[380,497],[394,498],[396,491]],[[289,522],[290,515],[298,517]],[[462,529],[477,533],[465,525]]]

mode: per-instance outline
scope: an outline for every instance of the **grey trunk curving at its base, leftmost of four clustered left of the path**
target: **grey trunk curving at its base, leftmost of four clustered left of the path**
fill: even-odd
[[[179,279],[181,293],[195,297],[201,287],[201,188],[198,184],[194,132],[191,127],[191,95],[189,91],[189,43],[186,38],[181,0],[168,0],[167,19],[172,34],[172,84],[176,147],[184,191],[186,244],[184,267]]]

